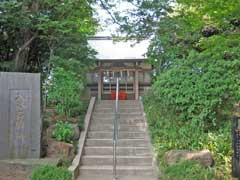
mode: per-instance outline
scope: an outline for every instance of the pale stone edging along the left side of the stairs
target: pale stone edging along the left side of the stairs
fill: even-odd
[[[73,159],[72,165],[68,168],[68,170],[72,173],[73,180],[79,176],[79,166],[81,157],[83,154],[83,148],[85,144],[85,140],[87,137],[87,132],[90,124],[90,120],[92,118],[92,113],[95,107],[96,97],[92,97],[88,106],[87,114],[84,119],[84,130],[81,132],[80,139],[78,141],[78,153]]]

